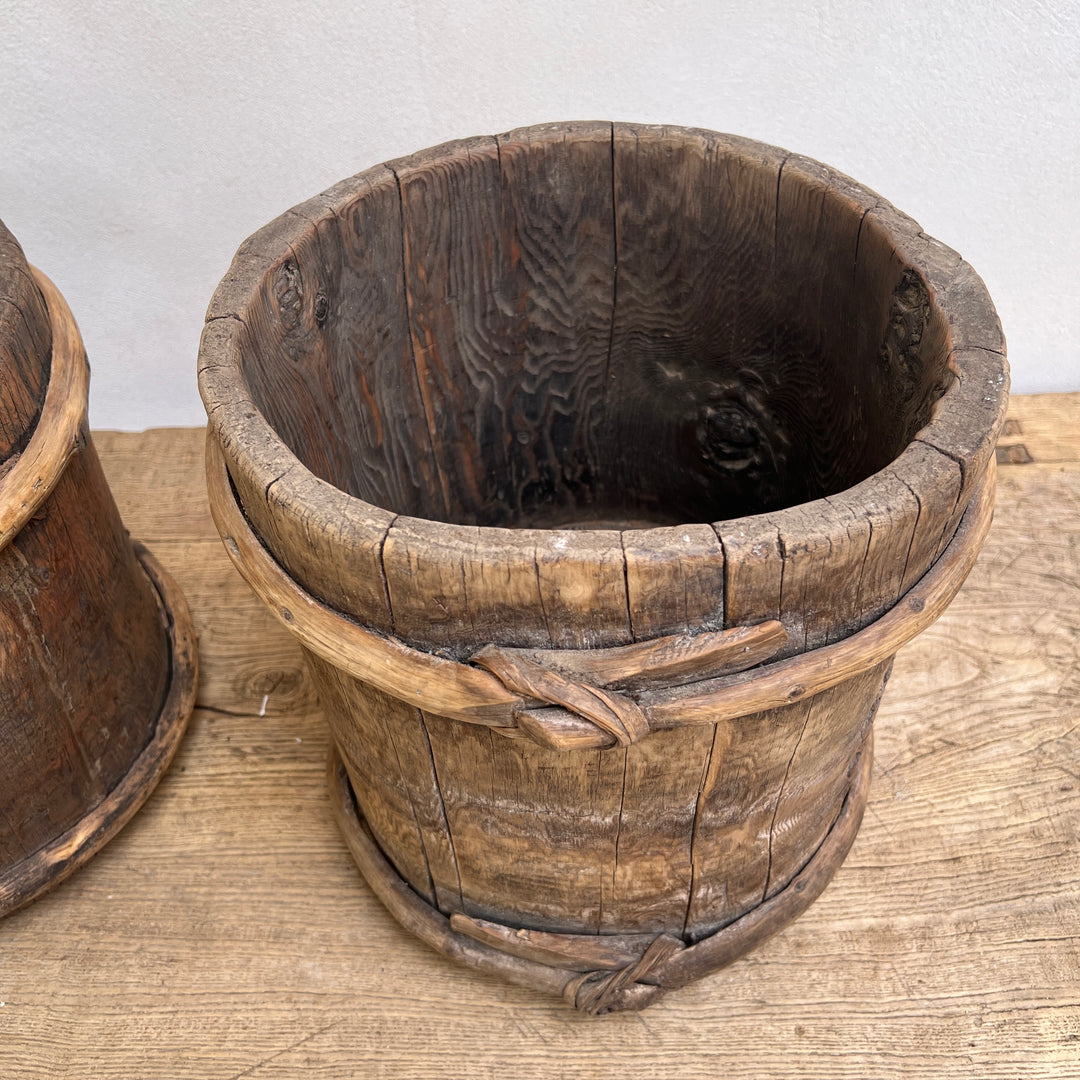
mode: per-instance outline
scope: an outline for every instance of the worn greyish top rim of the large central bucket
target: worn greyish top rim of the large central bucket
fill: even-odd
[[[1009,367],[1000,322],[986,286],[972,267],[955,251],[927,235],[917,221],[896,210],[872,189],[827,165],[810,158],[791,153],[768,144],[742,136],[708,132],[677,125],[618,125],[635,132],[662,131],[686,138],[718,140],[734,153],[753,154],[767,161],[780,161],[786,172],[796,171],[810,180],[825,183],[862,207],[864,217],[872,218],[893,241],[901,258],[914,269],[927,285],[930,302],[944,315],[949,329],[948,365],[954,380],[934,407],[930,422],[918,431],[901,454],[883,469],[843,490],[807,502],[795,503],[770,515],[783,517],[813,508],[845,516],[886,471],[899,475],[916,492],[924,482],[918,447],[930,446],[960,464],[985,469],[993,453],[997,431],[1004,420],[1009,389]],[[594,132],[595,123],[538,124],[517,129],[505,138],[527,137],[534,141],[566,138],[576,133]],[[489,138],[458,139],[441,144],[417,154],[395,159],[340,181],[324,192],[285,211],[249,237],[237,252],[232,265],[218,285],[210,303],[199,347],[199,389],[206,409],[211,431],[221,445],[230,471],[239,470],[251,477],[253,486],[269,492],[273,487],[276,501],[302,505],[315,527],[337,528],[342,521],[355,522],[372,529],[388,528],[396,521],[416,521],[447,529],[478,529],[492,543],[513,542],[516,538],[534,544],[551,544],[561,534],[588,532],[602,538],[616,549],[625,531],[649,529],[566,529],[534,526],[455,526],[436,517],[396,514],[391,508],[376,505],[349,495],[313,473],[284,443],[255,404],[241,366],[241,336],[244,330],[243,308],[258,284],[274,267],[291,255],[291,245],[310,233],[316,222],[336,216],[353,200],[361,198],[368,185],[384,181],[389,172],[399,174],[424,162],[458,157],[474,149],[477,143],[489,146]],[[727,518],[725,524],[759,517],[748,514]],[[673,526],[712,523],[679,522]]]

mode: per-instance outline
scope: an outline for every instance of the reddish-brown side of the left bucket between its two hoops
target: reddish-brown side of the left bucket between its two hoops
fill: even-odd
[[[0,594],[0,863],[10,866],[117,785],[168,683],[158,602],[92,445],[4,549]]]

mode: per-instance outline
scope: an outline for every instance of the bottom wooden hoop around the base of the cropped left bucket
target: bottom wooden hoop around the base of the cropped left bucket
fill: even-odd
[[[179,588],[139,543],[136,558],[161,609],[168,636],[170,685],[153,734],[123,780],[73,827],[0,876],[0,917],[55,888],[99,851],[132,819],[164,775],[195,704],[199,659],[191,612]]]

